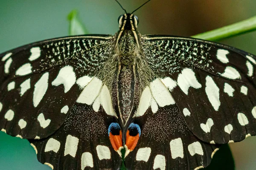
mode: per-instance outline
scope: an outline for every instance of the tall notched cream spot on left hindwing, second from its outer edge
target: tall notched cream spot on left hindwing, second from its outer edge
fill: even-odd
[[[66,139],[66,144],[65,144],[64,156],[70,155],[73,158],[75,158],[78,142],[79,142],[78,138],[76,138],[75,136],[68,135]]]

